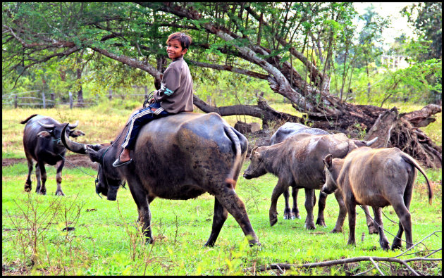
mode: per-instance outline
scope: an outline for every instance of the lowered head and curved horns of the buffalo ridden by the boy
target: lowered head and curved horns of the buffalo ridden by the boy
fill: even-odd
[[[122,182],[118,171],[111,165],[116,159],[116,149],[111,148],[112,145],[90,145],[71,141],[66,136],[67,127],[68,124],[63,127],[64,136],[61,137],[63,146],[74,153],[87,154],[92,162],[99,163],[96,193],[106,196],[109,201],[116,201],[117,191]]]

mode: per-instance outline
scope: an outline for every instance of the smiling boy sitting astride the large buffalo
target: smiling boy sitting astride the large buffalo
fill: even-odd
[[[132,162],[130,150],[134,149],[137,134],[147,122],[180,112],[192,112],[192,77],[183,56],[191,44],[191,37],[182,32],[170,34],[166,40],[166,53],[173,61],[164,72],[161,88],[154,91],[149,107],[132,115],[130,127],[123,141],[123,151],[114,161],[114,167]]]

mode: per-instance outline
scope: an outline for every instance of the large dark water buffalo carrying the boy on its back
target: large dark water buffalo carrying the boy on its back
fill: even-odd
[[[126,134],[127,126],[121,134]],[[84,145],[62,137],[76,153],[87,153],[100,163],[97,194],[116,200],[126,180],[137,205],[147,242],[152,242],[149,203],[154,198],[187,200],[209,192],[214,195],[213,227],[206,246],[214,246],[228,213],[239,223],[249,243],[259,244],[235,183],[247,154],[248,141],[216,113],[178,113],[159,118],[140,129],[133,163],[113,168],[121,153],[123,136],[111,146]]]

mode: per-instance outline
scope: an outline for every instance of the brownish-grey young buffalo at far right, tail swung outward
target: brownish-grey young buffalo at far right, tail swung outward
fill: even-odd
[[[329,154],[323,159],[326,165],[326,183],[322,191],[331,194],[340,188],[343,192],[348,213],[350,234],[347,244],[356,244],[356,205],[372,206],[376,224],[379,226],[379,244],[384,250],[390,248],[383,232],[381,208],[393,206],[400,218],[399,230],[393,240],[392,249],[401,247],[402,232],[405,230],[407,249],[413,244],[412,221],[409,207],[412,201],[413,184],[417,169],[426,178],[428,201],[431,203],[430,182],[417,161],[397,148],[359,148],[345,158],[334,158]]]

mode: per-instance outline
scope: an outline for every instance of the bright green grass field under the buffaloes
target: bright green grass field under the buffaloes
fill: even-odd
[[[18,122],[33,113],[49,115],[61,122],[79,120],[78,128],[87,135],[79,137],[78,141],[101,143],[113,139],[128,119],[130,111],[131,108],[119,110],[112,106],[73,110],[2,110],[2,157],[25,157],[21,146],[23,125]],[[230,121],[233,120],[228,119]],[[230,124],[234,125],[234,122]],[[437,129],[435,127],[432,133],[440,139],[440,129],[439,134]],[[426,134],[431,136],[431,133]],[[248,163],[246,161],[242,172]],[[2,168],[4,275],[253,274],[242,269],[271,263],[300,265],[358,256],[390,257],[402,253],[381,250],[378,236],[368,234],[364,213],[360,208],[357,208],[356,246],[346,245],[347,220],[343,233],[331,234],[338,215],[338,205],[333,196],[327,198],[327,227],[316,226],[313,231],[304,229],[306,212],[302,191],[298,196],[302,219],[283,220],[284,202],[281,197],[278,202],[278,223],[270,227],[268,210],[277,179],[269,174],[251,180],[240,177],[236,187],[238,196],[245,203],[254,231],[259,236],[261,247],[249,248],[242,229],[231,215],[218,236],[216,246],[204,247],[211,232],[214,208],[214,197],[209,194],[187,201],[156,199],[150,206],[155,243],[145,245],[137,229],[137,208],[129,190],[119,189],[118,201],[107,201],[95,194],[95,170],[65,168],[62,188],[66,196],[58,197],[54,196],[56,171],[51,166],[47,167],[47,171],[48,195],[39,196],[35,194],[34,173],[31,193],[27,194],[23,190],[27,175],[26,163]],[[442,172],[426,172],[433,182],[433,203],[428,205],[424,177],[419,174],[410,208],[414,243],[442,230]],[[319,196],[319,191],[316,191],[316,196]],[[398,221],[393,208],[384,208],[383,212],[391,220]],[[314,208],[314,217],[316,215],[317,205]],[[384,228],[390,234],[396,234],[397,223],[390,222],[386,217],[383,219]],[[66,227],[73,227],[75,230],[67,232],[63,230]],[[362,233],[365,234],[364,241],[361,241]],[[393,236],[390,234],[386,233],[386,236],[391,244]],[[437,232],[402,258],[415,258],[441,247],[442,234]],[[405,243],[403,249],[405,251]],[[442,252],[431,255],[431,258],[442,258]],[[383,272],[390,274],[387,265],[378,265]],[[356,274],[371,267],[373,265],[366,262],[330,268],[290,270],[285,274]],[[441,261],[414,263],[412,267],[422,273],[442,274]],[[407,274],[402,270],[398,271],[395,274]],[[255,274],[274,275],[278,272],[269,270]],[[367,274],[378,274],[378,271],[374,269]]]

